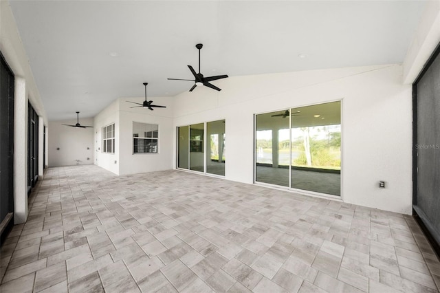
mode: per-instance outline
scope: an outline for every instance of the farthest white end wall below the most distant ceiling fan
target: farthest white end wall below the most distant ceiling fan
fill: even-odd
[[[73,166],[94,163],[94,129],[68,127],[77,120],[50,121],[49,166]],[[80,118],[81,125],[93,126],[93,118]],[[43,157],[41,157],[43,158]]]

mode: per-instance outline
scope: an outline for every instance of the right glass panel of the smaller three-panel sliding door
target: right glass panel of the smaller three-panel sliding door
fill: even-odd
[[[225,120],[206,123],[206,173],[225,175]]]

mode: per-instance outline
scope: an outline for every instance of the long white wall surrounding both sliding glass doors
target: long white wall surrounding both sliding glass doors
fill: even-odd
[[[176,96],[174,124],[225,118],[225,178],[252,183],[254,113],[342,100],[343,201],[411,214],[412,91],[401,78],[401,65],[225,78],[222,91]]]

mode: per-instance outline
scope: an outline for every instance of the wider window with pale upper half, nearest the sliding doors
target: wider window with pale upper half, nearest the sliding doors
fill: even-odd
[[[159,125],[133,122],[133,153],[157,153]]]

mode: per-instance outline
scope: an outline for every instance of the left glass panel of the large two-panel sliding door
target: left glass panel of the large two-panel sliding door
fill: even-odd
[[[256,181],[288,187],[289,113],[280,113],[256,115]]]

